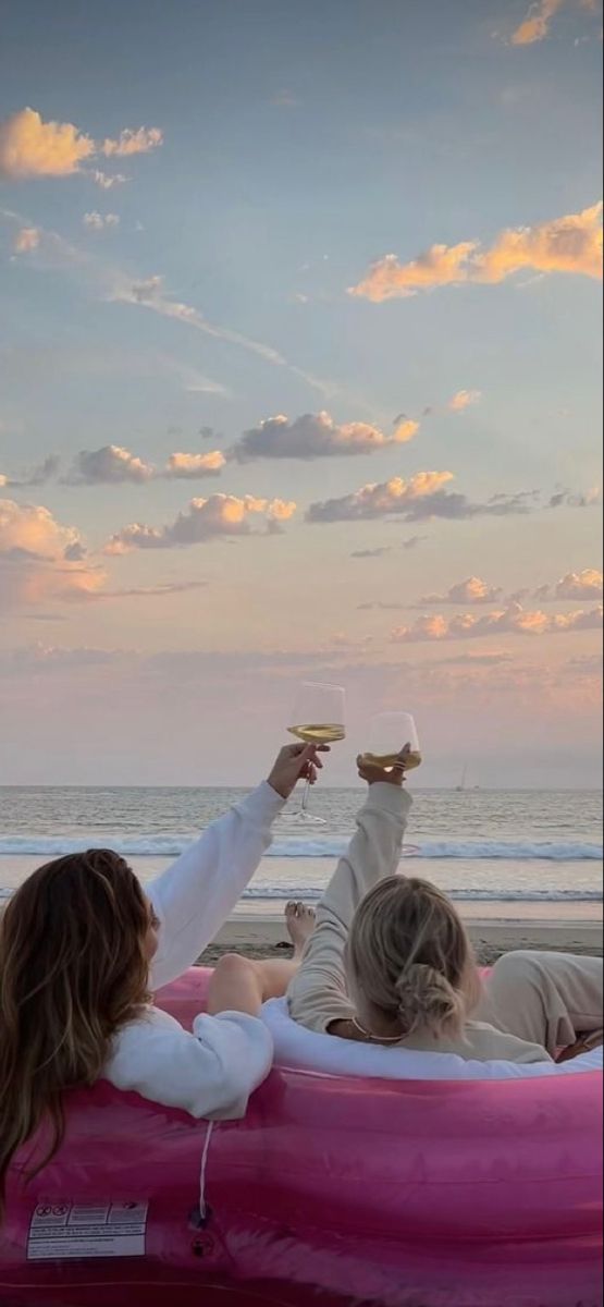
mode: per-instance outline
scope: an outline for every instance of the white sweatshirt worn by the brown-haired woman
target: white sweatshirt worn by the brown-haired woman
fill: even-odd
[[[153,989],[192,966],[233,911],[271,844],[284,800],[264,782],[169,867],[146,893],[159,919]],[[193,1033],[148,1008],[112,1040],[103,1078],[192,1116],[243,1116],[271,1069],[272,1038],[258,1017],[199,1016]]]

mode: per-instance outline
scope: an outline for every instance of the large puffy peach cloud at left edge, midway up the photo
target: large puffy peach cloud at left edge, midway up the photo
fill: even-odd
[[[39,505],[0,499],[0,609],[85,599],[103,580],[73,527]]]

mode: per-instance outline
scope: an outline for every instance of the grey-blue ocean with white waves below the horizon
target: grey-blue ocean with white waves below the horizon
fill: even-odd
[[[413,789],[405,869],[434,881],[473,915],[597,919],[601,795],[597,791]],[[246,791],[0,787],[0,897],[42,863],[90,846],[123,853],[149,881]],[[276,914],[288,898],[316,901],[354,829],[362,789],[318,786],[299,818],[299,792],[241,911]]]

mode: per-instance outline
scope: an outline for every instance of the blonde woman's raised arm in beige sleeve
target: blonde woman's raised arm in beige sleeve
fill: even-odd
[[[370,784],[357,831],[318,906],[315,929],[288,989],[290,1016],[309,1030],[324,1034],[333,1022],[354,1017],[344,968],[348,931],[365,894],[396,872],[411,802],[400,778],[399,784],[394,779]]]

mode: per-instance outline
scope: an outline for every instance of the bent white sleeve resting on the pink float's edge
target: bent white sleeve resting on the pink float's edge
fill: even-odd
[[[171,1018],[143,1018],[119,1031],[103,1077],[191,1116],[235,1120],[244,1116],[272,1059],[272,1036],[258,1017],[200,1016],[193,1034]]]

